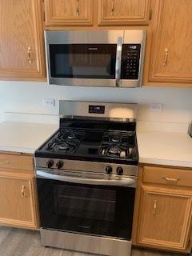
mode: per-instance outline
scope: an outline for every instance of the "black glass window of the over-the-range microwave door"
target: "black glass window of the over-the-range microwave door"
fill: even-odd
[[[117,45],[50,45],[52,78],[115,77]]]

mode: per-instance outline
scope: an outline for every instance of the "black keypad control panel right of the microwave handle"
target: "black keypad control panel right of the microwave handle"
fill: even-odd
[[[140,52],[140,44],[122,45],[122,79],[138,79]]]

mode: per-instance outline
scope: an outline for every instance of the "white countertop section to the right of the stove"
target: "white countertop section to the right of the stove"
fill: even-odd
[[[192,138],[187,133],[139,130],[139,162],[192,168]]]

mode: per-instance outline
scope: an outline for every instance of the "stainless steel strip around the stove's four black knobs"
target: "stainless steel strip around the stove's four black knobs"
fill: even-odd
[[[58,170],[56,163],[61,159],[56,158],[35,158],[35,167],[36,170],[47,170],[46,162],[48,160],[54,160],[54,166],[50,171],[54,172],[54,170]],[[77,170],[79,173],[90,172],[90,173],[98,173],[98,174],[105,174],[106,173],[106,166],[111,166],[113,169],[112,174],[116,175],[117,167],[119,166],[116,163],[109,163],[109,162],[88,162],[88,161],[78,161],[78,160],[69,160],[69,159],[62,159],[64,165],[62,169],[59,170]],[[123,175],[130,177],[130,176],[138,176],[138,166],[129,166],[129,165],[122,165],[123,168]]]

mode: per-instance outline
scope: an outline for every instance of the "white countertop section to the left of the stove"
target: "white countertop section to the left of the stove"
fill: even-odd
[[[0,150],[34,154],[56,130],[57,124],[1,122]]]

